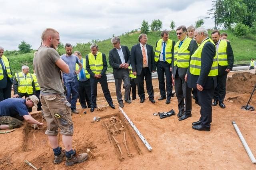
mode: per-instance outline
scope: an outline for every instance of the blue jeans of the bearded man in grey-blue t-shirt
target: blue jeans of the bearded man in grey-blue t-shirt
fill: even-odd
[[[78,80],[76,80],[75,82],[65,82],[64,81],[64,86],[66,86],[67,88],[67,94],[66,94],[66,98],[68,100],[68,102],[71,104],[71,110],[75,110],[76,109],[76,102],[78,99]]]

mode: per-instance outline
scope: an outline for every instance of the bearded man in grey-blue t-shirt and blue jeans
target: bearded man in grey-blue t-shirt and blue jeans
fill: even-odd
[[[66,54],[63,54],[62,56],[60,56],[60,58],[64,60],[66,64],[68,64],[70,72],[69,73],[63,72],[62,78],[63,78],[64,86],[66,86],[67,88],[66,97],[68,102],[70,102],[71,104],[71,110],[73,113],[78,114],[79,112],[76,110],[76,102],[78,99],[78,86],[79,86],[77,74],[80,72],[83,66],[79,58],[74,54],[72,54],[73,49],[71,44],[67,43],[65,45],[65,49],[66,49]],[[76,70],[76,64],[79,65],[78,70]]]

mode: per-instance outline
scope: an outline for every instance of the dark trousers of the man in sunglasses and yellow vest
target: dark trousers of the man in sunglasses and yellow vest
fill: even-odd
[[[178,71],[178,69],[177,69]],[[192,110],[192,97],[191,97],[191,88],[188,87],[187,82],[184,78],[180,78],[179,74],[175,75],[175,92],[178,99],[178,108],[179,111],[184,111],[185,114],[191,114]],[[185,106],[184,106],[185,99]]]

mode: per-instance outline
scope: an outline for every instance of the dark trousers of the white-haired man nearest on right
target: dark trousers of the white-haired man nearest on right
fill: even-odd
[[[203,91],[197,90],[198,99],[200,101],[200,120],[202,126],[210,128],[212,122],[212,98],[214,94],[214,88],[204,89]],[[201,102],[202,101],[202,102]]]

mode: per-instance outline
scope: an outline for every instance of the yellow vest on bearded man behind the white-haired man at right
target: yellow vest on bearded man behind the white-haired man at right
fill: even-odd
[[[227,41],[220,40],[218,48],[218,64],[228,66]]]

